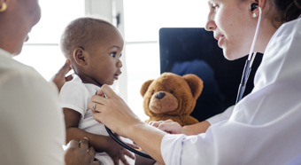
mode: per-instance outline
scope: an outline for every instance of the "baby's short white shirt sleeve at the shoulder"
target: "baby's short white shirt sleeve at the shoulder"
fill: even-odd
[[[82,119],[89,109],[89,98],[87,88],[78,82],[66,82],[59,92],[61,106],[80,113]]]

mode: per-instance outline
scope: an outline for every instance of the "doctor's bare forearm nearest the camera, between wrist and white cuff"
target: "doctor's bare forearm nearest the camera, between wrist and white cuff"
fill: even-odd
[[[166,132],[143,122],[133,125],[128,134],[127,137],[142,147],[143,151],[150,154],[159,163],[165,164],[161,154],[161,142]]]

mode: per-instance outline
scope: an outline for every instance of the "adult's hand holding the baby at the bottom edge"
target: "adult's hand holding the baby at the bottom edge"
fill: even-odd
[[[89,147],[88,138],[71,140],[67,145],[65,153],[66,165],[100,165],[99,161],[94,161],[95,150]]]

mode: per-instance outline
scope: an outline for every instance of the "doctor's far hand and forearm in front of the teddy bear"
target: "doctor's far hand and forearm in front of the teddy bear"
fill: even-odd
[[[178,122],[174,122],[169,119],[164,122],[149,122],[150,125],[157,127],[159,130],[166,131],[172,134],[185,134],[185,135],[197,135],[200,133],[205,133],[205,131],[210,127],[210,123],[207,121],[198,122],[196,124],[187,125],[181,127]]]

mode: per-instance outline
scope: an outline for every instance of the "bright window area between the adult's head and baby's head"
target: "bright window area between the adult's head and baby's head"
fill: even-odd
[[[24,43],[21,54],[15,59],[34,67],[46,80],[56,74],[65,63],[58,43],[66,25],[85,15],[85,1],[82,0],[40,0],[41,20]],[[59,5],[58,5],[59,4]]]

